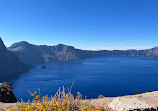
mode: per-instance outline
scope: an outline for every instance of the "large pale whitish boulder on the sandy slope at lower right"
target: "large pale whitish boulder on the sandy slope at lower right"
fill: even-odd
[[[115,98],[111,103],[108,104],[108,106],[114,111],[132,111],[135,109],[143,111],[145,109],[152,108],[152,106],[138,100],[137,98]]]

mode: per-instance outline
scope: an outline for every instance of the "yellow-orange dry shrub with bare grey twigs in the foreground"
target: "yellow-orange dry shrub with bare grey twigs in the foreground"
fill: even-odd
[[[72,87],[71,87],[72,89]],[[65,88],[61,88],[53,97],[40,97],[37,92],[30,92],[31,96],[34,96],[32,102],[20,102],[17,108],[8,108],[8,111],[110,111],[110,108],[104,108],[102,106],[93,106],[90,103],[83,101],[82,95],[78,92],[74,97],[71,94],[71,89],[68,93],[65,93]]]

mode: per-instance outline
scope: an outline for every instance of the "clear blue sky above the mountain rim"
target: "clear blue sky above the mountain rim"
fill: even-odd
[[[158,46],[158,0],[0,0],[0,37],[7,47],[151,48]]]

